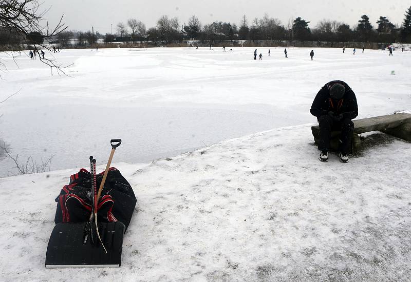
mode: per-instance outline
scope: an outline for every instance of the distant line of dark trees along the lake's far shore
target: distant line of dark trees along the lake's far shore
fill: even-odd
[[[309,28],[302,17],[290,19],[284,25],[279,19],[270,17],[267,13],[262,18],[255,17],[251,21],[242,16],[239,25],[228,22],[213,22],[202,25],[197,16],[193,15],[187,23],[181,24],[177,17],[162,15],[155,27],[146,29],[143,22],[129,18],[125,23],[116,25],[117,33],[105,35],[90,31],[64,31],[57,35],[62,46],[74,44],[90,46],[98,39],[106,43],[113,42],[171,42],[182,40],[219,41],[327,41],[327,42],[402,42],[411,43],[411,7],[405,12],[401,26],[389,21],[386,16],[380,16],[375,24],[371,24],[368,15],[364,14],[358,24],[350,27],[345,23],[323,19],[314,28]],[[39,39],[32,34],[33,38]],[[39,39],[41,40],[41,38]],[[71,41],[71,42],[70,42]],[[0,44],[17,44],[19,38],[12,31],[0,27]]]

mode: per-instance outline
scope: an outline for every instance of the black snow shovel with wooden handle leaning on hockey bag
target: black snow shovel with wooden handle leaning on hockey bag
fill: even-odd
[[[114,151],[121,139],[110,140],[111,153],[100,185],[98,198],[104,187]],[[96,187],[97,188],[97,187]],[[58,223],[51,232],[46,252],[46,268],[101,268],[120,267],[125,225],[120,221],[97,223],[99,241],[84,241],[87,222]]]

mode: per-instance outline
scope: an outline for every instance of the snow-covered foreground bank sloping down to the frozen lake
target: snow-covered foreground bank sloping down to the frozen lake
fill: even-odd
[[[411,144],[318,154],[303,125],[114,164],[138,197],[120,269],[44,268],[54,198],[78,169],[1,178],[1,279],[406,281]]]

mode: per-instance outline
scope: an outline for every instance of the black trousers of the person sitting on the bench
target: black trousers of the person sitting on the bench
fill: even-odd
[[[330,148],[331,131],[341,131],[339,140],[339,151],[348,154],[351,146],[351,138],[354,132],[354,123],[349,118],[336,122],[329,115],[321,115],[317,118],[320,126],[320,144],[321,151],[328,151]]]

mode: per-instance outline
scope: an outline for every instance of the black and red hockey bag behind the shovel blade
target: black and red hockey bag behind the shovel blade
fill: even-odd
[[[97,174],[97,187],[100,187],[104,171]],[[93,196],[91,195],[91,175],[86,169],[70,176],[55,198],[57,211],[54,222],[82,223],[89,220]],[[100,223],[120,221],[127,229],[132,219],[137,199],[127,180],[116,168],[110,168],[104,183],[101,198],[97,205],[97,219]]]

